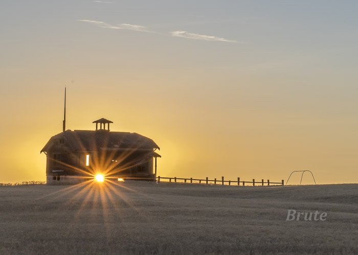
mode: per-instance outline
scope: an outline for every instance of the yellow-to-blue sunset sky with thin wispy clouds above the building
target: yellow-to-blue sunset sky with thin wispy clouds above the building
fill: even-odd
[[[161,176],[358,182],[356,1],[0,2],[0,183],[66,128],[136,132]],[[299,176],[293,176],[293,183]],[[304,176],[304,184],[312,184]]]

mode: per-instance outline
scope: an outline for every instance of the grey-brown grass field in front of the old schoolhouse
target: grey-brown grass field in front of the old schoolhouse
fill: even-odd
[[[0,186],[0,217],[1,254],[358,253],[357,184]]]

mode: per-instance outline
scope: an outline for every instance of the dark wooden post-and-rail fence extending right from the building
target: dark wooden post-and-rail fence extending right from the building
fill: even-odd
[[[240,186],[240,183],[242,184],[242,186],[245,186],[245,184],[251,184],[252,186],[255,186],[255,184],[257,184],[258,186],[264,186],[264,184],[267,184],[267,186],[270,185],[275,185],[275,184],[279,184],[279,185],[284,185],[284,181],[281,180],[280,183],[275,183],[275,182],[270,182],[270,180],[267,180],[267,182],[264,182],[264,180],[262,179],[261,181],[255,181],[255,179],[252,179],[251,181],[240,181],[240,177],[237,177],[237,181],[230,181],[230,180],[225,180],[224,176],[221,176],[221,180],[217,180],[216,178],[214,180],[209,180],[208,177],[206,177],[206,179],[194,179],[192,177],[190,178],[178,178],[178,177],[162,177],[162,176],[158,176],[156,177],[156,182],[160,183],[160,182],[167,182],[167,183],[198,183],[198,184],[214,184],[214,185],[236,185],[236,186]]]

